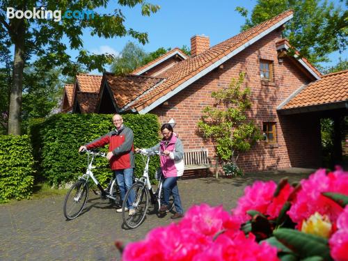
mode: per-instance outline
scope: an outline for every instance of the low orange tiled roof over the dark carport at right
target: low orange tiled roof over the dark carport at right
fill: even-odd
[[[280,109],[348,101],[348,70],[326,74],[305,86]]]

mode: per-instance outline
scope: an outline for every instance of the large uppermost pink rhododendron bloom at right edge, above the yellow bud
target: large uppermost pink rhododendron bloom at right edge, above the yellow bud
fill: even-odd
[[[322,196],[322,192],[335,192],[348,195],[348,172],[341,169],[326,175],[325,169],[319,169],[308,180],[301,180],[301,190],[292,202],[292,207],[287,212],[295,223],[299,224],[308,219],[312,214],[326,214],[331,222],[335,223],[342,207],[330,198]]]

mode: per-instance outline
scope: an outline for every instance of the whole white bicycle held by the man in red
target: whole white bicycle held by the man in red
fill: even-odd
[[[103,152],[93,152],[90,150],[84,150],[87,153],[87,171],[84,175],[79,177],[79,180],[75,182],[72,187],[69,189],[68,193],[65,196],[64,202],[64,216],[66,219],[75,219],[79,214],[81,214],[86,201],[88,199],[88,180],[91,178],[93,182],[97,185],[97,188],[100,189],[100,196],[102,199],[109,198],[111,204],[120,205],[121,196],[120,189],[116,178],[110,180],[109,186],[107,189],[104,189],[100,182],[93,175],[92,169],[97,168],[93,166],[93,161],[95,156],[106,157]],[[94,189],[93,192],[98,194]]]

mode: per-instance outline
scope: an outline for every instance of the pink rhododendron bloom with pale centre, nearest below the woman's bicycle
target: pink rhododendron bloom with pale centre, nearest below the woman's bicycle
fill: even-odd
[[[191,207],[180,221],[181,228],[191,229],[197,233],[211,237],[221,230],[238,230],[239,223],[232,219],[230,213],[219,207],[201,204]]]

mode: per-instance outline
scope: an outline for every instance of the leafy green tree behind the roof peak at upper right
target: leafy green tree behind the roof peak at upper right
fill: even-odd
[[[331,52],[345,50],[348,11],[328,1],[258,0],[242,31],[289,9],[294,10],[294,17],[285,27],[283,36],[311,63],[319,65],[329,61],[328,54]],[[237,7],[236,10],[247,17],[245,8]]]

